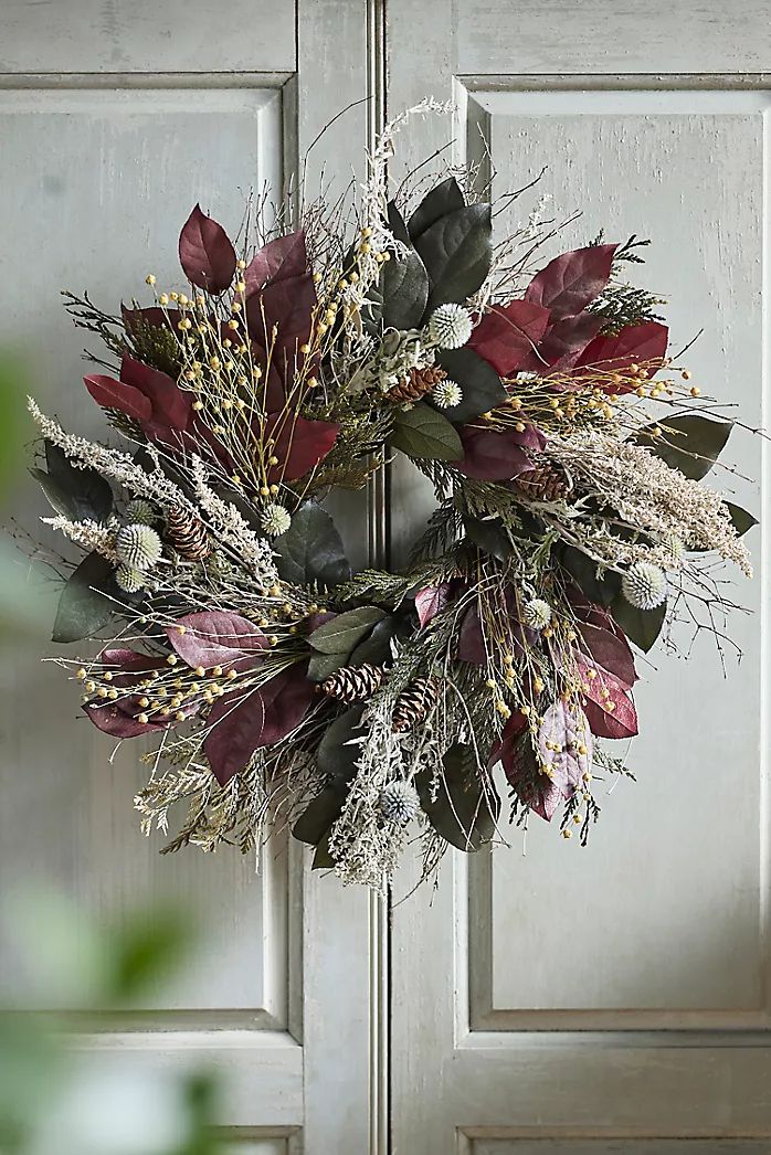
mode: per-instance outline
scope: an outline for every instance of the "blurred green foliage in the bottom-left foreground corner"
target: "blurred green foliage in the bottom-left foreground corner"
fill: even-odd
[[[169,1070],[140,1049],[98,1045],[99,1015],[129,1009],[172,978],[194,934],[177,908],[131,914],[119,926],[51,894],[16,895],[12,933],[36,1004],[89,1012],[79,1040],[50,1014],[0,1013],[2,1155],[215,1155],[215,1075]],[[104,1020],[109,1024],[109,1020]]]

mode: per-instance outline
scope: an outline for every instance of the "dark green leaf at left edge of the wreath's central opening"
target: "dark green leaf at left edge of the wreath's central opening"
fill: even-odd
[[[329,514],[316,501],[305,501],[286,534],[275,539],[276,567],[284,581],[296,586],[318,581],[336,586],[350,578],[340,534]]]

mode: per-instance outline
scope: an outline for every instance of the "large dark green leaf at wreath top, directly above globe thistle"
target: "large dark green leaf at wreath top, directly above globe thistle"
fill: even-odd
[[[464,301],[481,286],[492,260],[489,204],[466,204],[439,217],[415,240],[431,278],[428,313],[446,301]]]

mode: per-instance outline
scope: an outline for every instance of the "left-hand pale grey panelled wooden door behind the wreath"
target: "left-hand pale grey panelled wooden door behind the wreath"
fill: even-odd
[[[197,201],[235,231],[249,191],[281,189],[325,122],[368,96],[370,22],[353,3],[3,0],[0,323],[49,411],[99,427],[81,385],[83,334],[59,291],[88,286],[112,310],[150,270],[178,278],[177,234]],[[327,172],[343,184],[372,114],[359,105],[325,136]],[[312,154],[311,188],[319,170]],[[23,512],[40,509],[28,500]],[[365,546],[350,544],[363,562]],[[132,810],[136,751],[109,765],[110,743],[76,723],[72,687],[39,662],[49,636],[43,621],[2,661],[3,889],[36,877],[118,918],[177,897],[205,941],[193,973],[87,1045],[213,1064],[244,1155],[375,1150],[377,907],[311,875],[297,844],[268,852],[259,877],[235,851],[160,858]],[[18,979],[0,955],[5,993]]]

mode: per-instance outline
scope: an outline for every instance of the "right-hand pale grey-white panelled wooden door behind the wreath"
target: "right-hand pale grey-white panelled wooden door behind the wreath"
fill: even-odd
[[[766,3],[390,0],[388,99],[457,103],[458,159],[492,192],[547,172],[562,248],[652,238],[638,276],[672,299],[705,390],[768,420]],[[418,47],[420,45],[420,47]],[[403,134],[405,164],[450,137]],[[557,243],[558,244],[558,243]],[[549,255],[554,255],[553,251]],[[764,446],[739,431],[759,508]],[[400,541],[430,495],[398,467]],[[417,508],[422,506],[421,508]],[[396,543],[399,544],[399,543]],[[638,695],[637,783],[583,850],[531,826],[445,863],[394,910],[394,1155],[736,1155],[771,1149],[768,574],[739,589],[743,658],[699,639]],[[402,880],[401,892],[409,879]],[[396,895],[399,897],[399,895]]]

